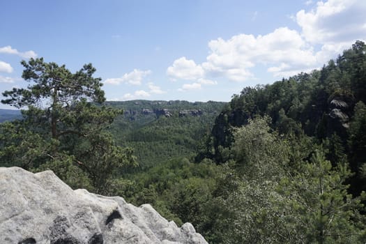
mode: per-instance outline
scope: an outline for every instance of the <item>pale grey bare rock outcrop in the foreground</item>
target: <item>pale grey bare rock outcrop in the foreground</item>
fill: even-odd
[[[0,243],[206,243],[150,205],[72,190],[52,171],[0,168]]]

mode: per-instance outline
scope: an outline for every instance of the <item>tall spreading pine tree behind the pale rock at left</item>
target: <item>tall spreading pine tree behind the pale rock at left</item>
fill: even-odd
[[[22,65],[29,86],[3,92],[1,102],[28,109],[24,119],[1,124],[1,165],[52,169],[72,186],[108,194],[109,181],[135,158],[106,131],[122,110],[92,103],[105,101],[96,69],[88,64],[70,73],[43,59]]]

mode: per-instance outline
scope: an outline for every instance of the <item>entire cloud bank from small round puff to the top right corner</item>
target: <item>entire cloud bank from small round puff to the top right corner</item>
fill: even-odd
[[[304,2],[307,5],[312,1]],[[210,52],[204,63],[185,57],[174,61],[167,70],[173,79],[192,80],[223,77],[234,82],[255,79],[254,67],[263,66],[274,77],[288,77],[320,68],[356,40],[366,38],[366,1],[319,1],[312,10],[300,10],[293,20],[300,32],[279,27],[254,36],[241,33],[208,43]],[[188,90],[192,84],[185,84]],[[188,89],[187,89],[188,88]]]

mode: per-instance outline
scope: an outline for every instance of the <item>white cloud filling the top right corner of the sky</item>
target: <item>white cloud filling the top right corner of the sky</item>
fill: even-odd
[[[348,43],[366,37],[366,1],[328,0],[317,2],[316,9],[296,14],[305,40],[310,43]]]

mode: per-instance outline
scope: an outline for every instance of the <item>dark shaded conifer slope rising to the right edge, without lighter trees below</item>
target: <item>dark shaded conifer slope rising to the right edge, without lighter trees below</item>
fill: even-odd
[[[216,119],[204,155],[224,162],[228,159],[225,151],[234,142],[232,128],[267,115],[270,128],[280,135],[304,134],[319,144],[326,143],[328,159],[334,164],[346,158],[356,173],[352,189],[359,195],[366,190],[362,176],[366,162],[365,50],[365,44],[357,42],[321,70],[246,87]]]

